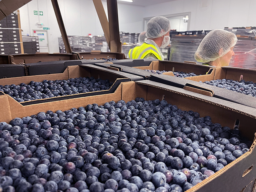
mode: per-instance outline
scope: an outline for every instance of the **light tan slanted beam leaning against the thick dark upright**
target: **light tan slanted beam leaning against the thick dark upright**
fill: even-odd
[[[108,43],[109,49],[110,49],[110,37],[109,37],[109,24],[108,24],[108,18],[106,16],[106,12],[104,10],[103,4],[101,0],[93,0],[94,6],[96,8],[99,21],[101,23],[104,36],[106,37],[106,41]]]

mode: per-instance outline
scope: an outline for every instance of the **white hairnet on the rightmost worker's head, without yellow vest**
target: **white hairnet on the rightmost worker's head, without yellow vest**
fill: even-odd
[[[202,63],[214,61],[227,54],[236,42],[235,34],[222,29],[214,29],[201,41],[195,53],[195,59]]]

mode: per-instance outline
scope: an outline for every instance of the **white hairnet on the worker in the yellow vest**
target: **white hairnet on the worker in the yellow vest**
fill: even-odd
[[[146,36],[148,39],[155,39],[165,35],[170,30],[170,21],[166,17],[157,16],[148,21]]]

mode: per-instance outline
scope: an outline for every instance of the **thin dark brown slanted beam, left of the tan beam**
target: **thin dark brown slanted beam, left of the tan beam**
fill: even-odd
[[[64,26],[64,22],[62,20],[62,16],[61,16],[61,13],[60,13],[60,7],[59,7],[59,4],[58,4],[58,1],[57,0],[51,0],[51,1],[52,1],[52,6],[54,8],[54,12],[55,12],[58,24],[59,24],[60,33],[61,33],[64,45],[65,45],[66,52],[71,54],[72,49],[71,49],[71,46],[70,46],[69,41],[68,41],[68,36],[67,36],[67,32],[66,32],[66,29],[65,29],[65,26]]]

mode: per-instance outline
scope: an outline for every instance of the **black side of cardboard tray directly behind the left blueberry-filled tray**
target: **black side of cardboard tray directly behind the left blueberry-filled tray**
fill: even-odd
[[[53,73],[63,73],[67,66],[93,64],[105,62],[104,60],[69,60],[69,61],[50,61],[25,64],[28,75],[46,75]]]

